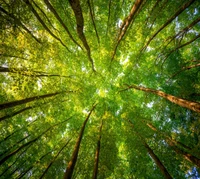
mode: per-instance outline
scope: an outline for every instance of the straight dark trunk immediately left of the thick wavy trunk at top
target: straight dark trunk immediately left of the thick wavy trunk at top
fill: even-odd
[[[78,45],[81,49],[82,47],[80,46],[80,44],[78,42],[76,42],[76,40],[72,37],[69,29],[67,28],[67,26],[65,25],[65,23],[63,22],[63,20],[60,18],[60,16],[58,15],[57,11],[54,9],[54,7],[52,6],[52,4],[49,2],[49,0],[44,0],[45,4],[47,5],[47,7],[50,9],[50,11],[54,14],[54,16],[56,17],[56,19],[60,22],[60,24],[63,26],[63,28],[65,29],[65,31],[67,32],[67,34],[69,35],[69,38],[76,44]]]

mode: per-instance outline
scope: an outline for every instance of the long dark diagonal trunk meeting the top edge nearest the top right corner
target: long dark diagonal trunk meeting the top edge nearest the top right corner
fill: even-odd
[[[186,2],[182,7],[178,9],[178,11],[175,12],[173,16],[171,16],[165,24],[163,24],[153,35],[152,37],[147,41],[144,47],[140,50],[140,52],[145,51],[147,46],[151,43],[151,41],[160,33],[165,27],[167,27],[177,16],[179,16],[185,9],[187,9],[192,3],[194,3],[195,0],[190,0]]]

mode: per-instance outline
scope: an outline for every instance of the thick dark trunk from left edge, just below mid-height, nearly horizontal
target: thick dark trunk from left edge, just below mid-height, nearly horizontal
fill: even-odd
[[[11,108],[11,107],[21,105],[21,104],[26,104],[26,103],[29,103],[31,101],[35,101],[35,100],[38,100],[38,99],[49,98],[49,97],[52,97],[52,96],[56,96],[58,94],[65,93],[65,92],[71,92],[71,91],[61,91],[61,92],[56,92],[56,93],[44,94],[44,95],[40,95],[40,96],[33,96],[33,97],[30,97],[30,98],[25,98],[25,99],[21,99],[21,100],[17,100],[17,101],[6,102],[6,103],[3,103],[3,104],[0,104],[0,110]]]

